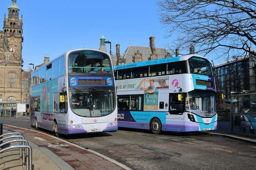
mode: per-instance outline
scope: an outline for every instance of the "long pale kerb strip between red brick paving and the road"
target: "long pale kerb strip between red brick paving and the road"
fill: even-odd
[[[116,164],[116,165],[122,167],[122,168],[125,169],[125,170],[132,170],[130,167],[128,167],[128,166],[126,166],[126,165],[124,165],[124,164],[122,164],[122,163],[120,163],[120,162],[117,162],[116,160],[111,159],[110,157],[107,157],[107,156],[105,156],[105,155],[102,155],[102,154],[100,154],[100,153],[98,153],[98,152],[96,152],[96,151],[93,151],[93,150],[85,149],[85,148],[83,148],[83,147],[80,147],[80,146],[77,145],[77,144],[74,144],[74,143],[71,143],[71,142],[69,142],[69,141],[60,139],[60,138],[58,138],[58,137],[56,137],[56,136],[52,136],[52,135],[49,135],[49,134],[47,134],[47,133],[35,131],[35,130],[32,130],[32,129],[20,128],[20,127],[16,127],[16,126],[12,126],[12,125],[6,125],[6,124],[5,124],[5,126],[10,126],[10,127],[14,127],[14,128],[18,128],[18,129],[24,129],[24,130],[30,130],[30,131],[33,131],[33,132],[37,132],[37,133],[41,133],[41,134],[44,134],[44,135],[53,137],[53,138],[55,138],[55,139],[58,139],[58,140],[61,140],[61,141],[63,141],[63,142],[66,142],[66,143],[68,143],[68,144],[71,144],[71,145],[73,145],[74,147],[77,147],[77,148],[80,148],[80,149],[82,149],[82,150],[85,150],[85,151],[89,151],[89,152],[91,152],[91,153],[94,153],[95,155],[98,155],[98,156],[100,156],[101,158],[106,159],[106,160],[108,160],[108,161],[110,161],[110,162],[112,162],[112,163],[114,163],[114,164]]]

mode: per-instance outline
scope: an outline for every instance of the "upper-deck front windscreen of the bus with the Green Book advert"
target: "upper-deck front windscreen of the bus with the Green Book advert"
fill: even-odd
[[[202,74],[212,76],[211,64],[207,59],[191,57],[188,59],[191,74]]]

